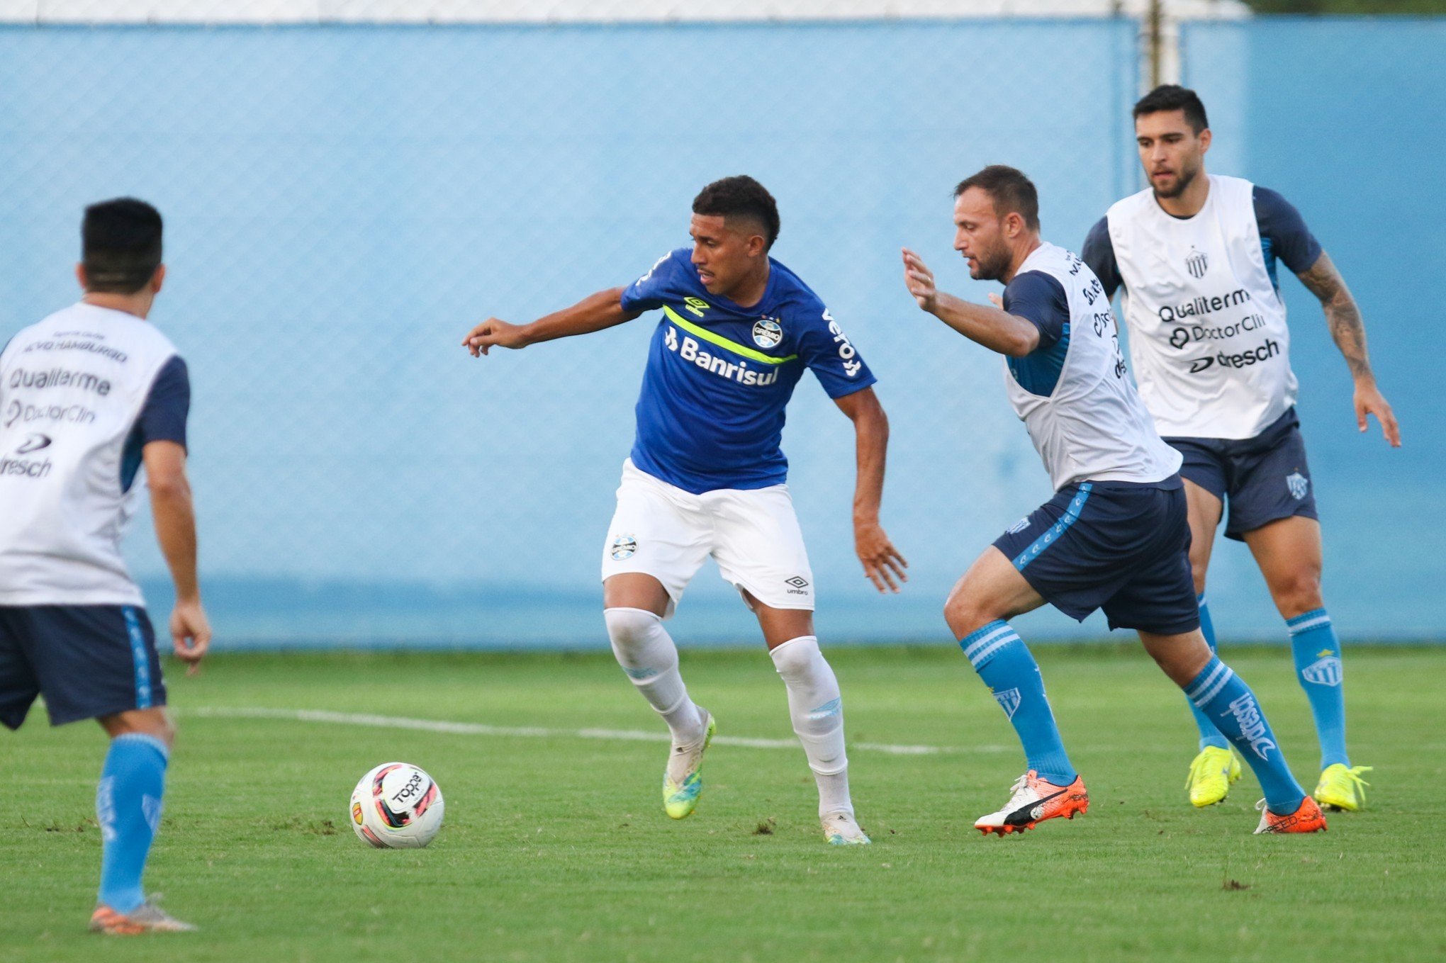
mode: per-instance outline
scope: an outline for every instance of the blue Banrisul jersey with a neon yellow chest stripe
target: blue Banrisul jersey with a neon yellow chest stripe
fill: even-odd
[[[694,495],[781,484],[784,408],[804,367],[830,398],[876,380],[818,295],[768,266],[763,298],[748,308],[709,294],[687,247],[623,291],[626,311],[662,308],[638,396],[642,471]]]

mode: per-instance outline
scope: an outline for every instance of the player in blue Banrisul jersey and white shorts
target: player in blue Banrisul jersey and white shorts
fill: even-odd
[[[664,628],[710,555],[758,616],[788,691],[794,732],[818,784],[834,844],[869,842],[849,795],[843,703],[814,636],[813,571],[785,484],[784,408],[804,369],[855,425],[855,549],[879,591],[898,591],[905,562],[879,525],[888,419],[839,322],[794,272],[769,257],[772,195],[748,176],[716,181],[693,201],[693,246],[658,259],[626,288],[534,321],[487,318],[463,344],[473,356],[587,334],[662,309],[638,398],[603,545],[603,616],[613,654],[662,716],[672,748],[664,810],[693,813],[713,716],[690,697]]]

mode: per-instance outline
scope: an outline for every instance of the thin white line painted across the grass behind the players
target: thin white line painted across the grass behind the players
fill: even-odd
[[[440,719],[408,719],[405,716],[373,716],[370,713],[335,713],[325,709],[227,709],[200,706],[187,709],[185,716],[198,719],[286,719],[292,722],[334,723],[340,726],[375,726],[377,729],[415,729],[421,732],[444,732],[457,736],[502,736],[509,739],[606,739],[615,742],[668,742],[665,732],[642,732],[638,729],[542,729],[538,726],[486,726],[483,723],[458,723]],[[748,739],[743,736],[717,736],[719,746],[746,746],[749,749],[792,749],[798,750],[795,739]],[[884,752],[894,756],[937,756],[964,752],[1009,752],[1014,746],[901,746],[886,742],[852,742],[850,749]]]

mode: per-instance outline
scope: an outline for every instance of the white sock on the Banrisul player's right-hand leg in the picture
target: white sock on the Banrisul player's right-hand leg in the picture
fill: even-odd
[[[788,639],[769,655],[788,687],[788,714],[818,782],[818,816],[846,813],[852,818],[849,758],[843,752],[843,700],[839,697],[839,680],[818,651],[818,639],[811,635]]]

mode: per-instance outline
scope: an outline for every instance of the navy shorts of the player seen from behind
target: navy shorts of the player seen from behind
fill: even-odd
[[[0,723],[36,696],[51,724],[166,704],[156,635],[136,606],[0,606]]]

